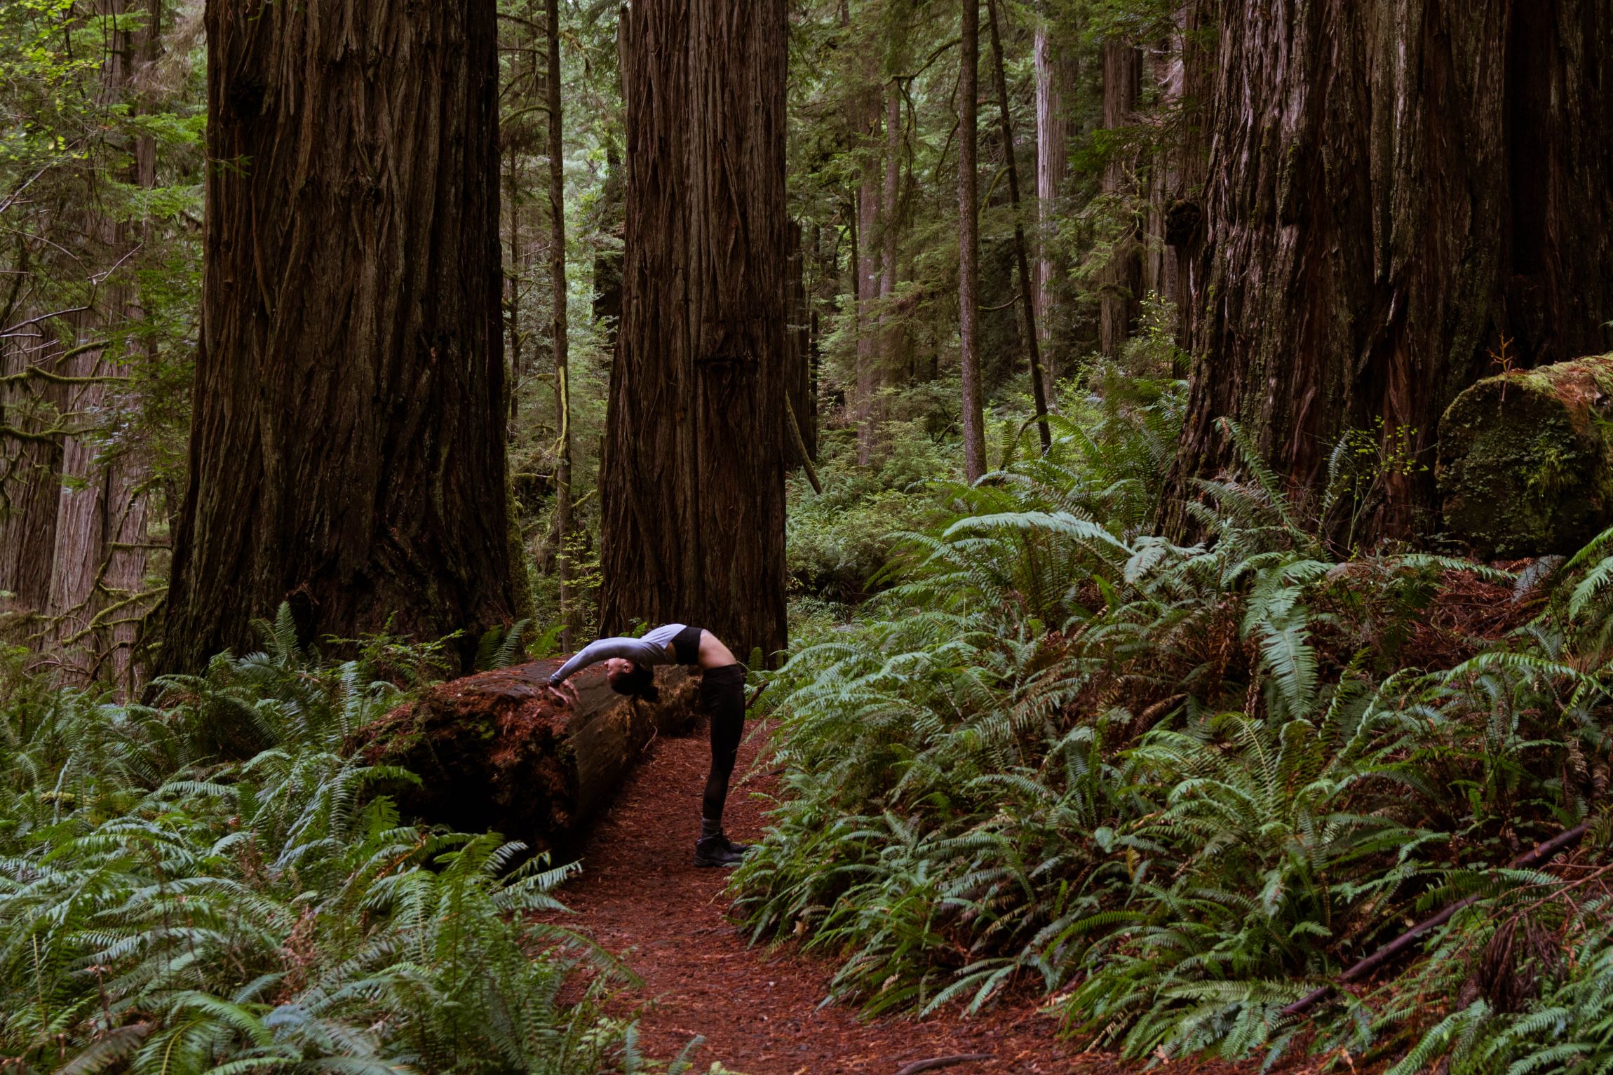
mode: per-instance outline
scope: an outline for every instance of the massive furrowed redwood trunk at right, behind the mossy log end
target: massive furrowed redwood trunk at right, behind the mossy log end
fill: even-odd
[[[1374,530],[1426,532],[1440,414],[1494,372],[1490,351],[1505,340],[1534,366],[1607,350],[1613,10],[1219,11],[1219,47],[1202,58],[1213,148],[1174,498],[1232,463],[1218,417],[1313,490],[1337,438],[1381,419],[1418,466],[1386,484]]]

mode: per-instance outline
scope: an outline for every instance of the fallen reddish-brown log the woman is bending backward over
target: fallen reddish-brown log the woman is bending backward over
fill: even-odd
[[[386,788],[410,817],[574,853],[650,740],[694,724],[700,680],[658,669],[661,698],[647,703],[610,690],[595,666],[571,679],[577,704],[566,706],[545,690],[556,667],[534,661],[450,680],[365,728],[353,746],[369,764],[421,778]],[[694,798],[689,809],[694,817]]]

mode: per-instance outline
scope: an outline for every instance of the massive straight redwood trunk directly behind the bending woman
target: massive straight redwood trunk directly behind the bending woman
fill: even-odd
[[[784,0],[644,0],[621,29],[623,322],[600,619],[786,643]]]

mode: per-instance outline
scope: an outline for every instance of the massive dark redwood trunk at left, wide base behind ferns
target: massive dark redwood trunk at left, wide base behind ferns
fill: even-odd
[[[518,614],[495,10],[210,3],[202,345],[166,670]]]

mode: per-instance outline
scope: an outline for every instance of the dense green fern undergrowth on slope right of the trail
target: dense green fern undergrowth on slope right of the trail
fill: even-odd
[[[1227,424],[1242,466],[1177,545],[1152,513],[1179,408],[1153,384],[1058,422],[937,493],[852,622],[808,622],[734,880],[750,935],[831,956],[868,1012],[1040,994],[1137,1059],[1613,1062],[1613,532],[1521,574],[1345,559]],[[1587,817],[1566,862],[1497,869]]]

